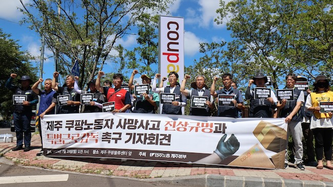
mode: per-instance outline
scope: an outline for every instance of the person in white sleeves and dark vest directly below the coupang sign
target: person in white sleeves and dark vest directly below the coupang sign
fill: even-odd
[[[181,107],[186,106],[186,96],[180,92],[178,80],[178,73],[169,73],[169,84],[170,86],[156,88],[156,81],[161,74],[156,74],[153,80],[152,90],[155,93],[175,93],[175,100],[172,101],[172,105],[163,105],[162,114],[177,114],[181,115]]]

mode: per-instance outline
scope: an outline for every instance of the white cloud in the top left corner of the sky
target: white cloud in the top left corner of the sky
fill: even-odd
[[[23,0],[23,3],[29,3],[30,0]],[[17,7],[23,8],[19,0],[0,0],[0,17],[12,21],[17,21],[23,14],[17,9]]]

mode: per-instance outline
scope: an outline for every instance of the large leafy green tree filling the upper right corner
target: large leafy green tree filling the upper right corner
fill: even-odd
[[[232,31],[225,56],[237,61],[238,78],[248,80],[260,70],[273,76],[277,88],[289,72],[331,75],[331,6],[331,1],[221,1],[215,20],[227,19]]]

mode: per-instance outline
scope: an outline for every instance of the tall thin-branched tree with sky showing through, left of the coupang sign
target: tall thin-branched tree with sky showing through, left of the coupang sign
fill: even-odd
[[[106,63],[117,63],[110,56],[116,40],[128,34],[142,15],[164,12],[173,0],[33,0],[21,11],[24,23],[43,34],[47,46],[59,54],[60,74],[69,73],[79,60],[79,86],[90,81]],[[150,14],[146,14],[146,13]]]

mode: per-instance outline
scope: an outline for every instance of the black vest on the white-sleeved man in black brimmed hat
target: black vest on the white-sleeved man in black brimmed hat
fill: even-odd
[[[252,95],[249,117],[272,117],[272,110],[273,105],[267,99],[254,99],[254,95]]]

